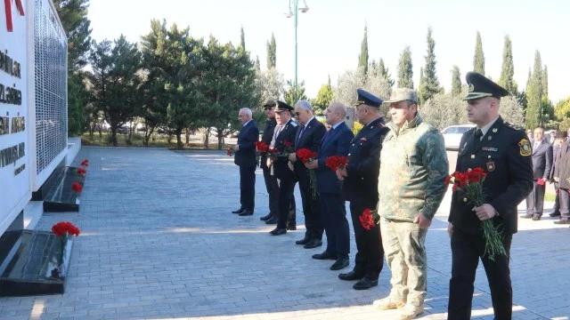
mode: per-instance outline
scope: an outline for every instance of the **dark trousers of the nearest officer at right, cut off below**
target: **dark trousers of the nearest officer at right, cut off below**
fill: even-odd
[[[509,256],[512,235],[504,235],[503,245],[507,256],[495,256],[494,261],[486,256],[485,241],[481,234],[471,235],[457,228],[452,233],[452,279],[449,284],[448,316],[450,320],[471,318],[473,283],[479,259],[483,261],[495,319],[506,320],[512,316],[513,290],[510,284]]]

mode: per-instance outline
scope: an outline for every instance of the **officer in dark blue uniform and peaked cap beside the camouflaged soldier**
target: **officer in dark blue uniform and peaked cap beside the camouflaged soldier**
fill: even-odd
[[[379,224],[366,230],[362,228],[360,216],[364,209],[374,210],[378,205],[380,150],[389,129],[380,114],[382,100],[362,89],[356,92],[356,116],[363,127],[350,142],[348,165],[337,170],[337,177],[344,180],[342,196],[350,202],[357,252],[354,269],[338,277],[347,281],[360,280],[353,288],[366,290],[378,285],[384,266],[384,249]]]

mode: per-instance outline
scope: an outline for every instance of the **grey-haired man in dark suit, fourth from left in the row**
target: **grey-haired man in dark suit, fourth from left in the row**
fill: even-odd
[[[295,151],[308,148],[318,152],[321,147],[322,137],[327,132],[324,124],[313,116],[313,108],[307,100],[299,100],[295,104],[295,115],[300,124],[295,137]],[[309,179],[309,170],[301,161],[297,161],[297,155],[289,155],[293,170],[299,180],[299,191],[303,202],[303,214],[305,215],[305,237],[297,240],[296,244],[302,244],[305,249],[312,249],[322,245],[322,233],[324,227],[321,220],[321,203],[319,195],[314,196]]]

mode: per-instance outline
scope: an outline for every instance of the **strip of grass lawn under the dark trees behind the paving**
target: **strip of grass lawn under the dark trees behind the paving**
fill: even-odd
[[[204,149],[204,143],[201,139],[197,139],[195,136],[191,136],[191,140],[189,144],[184,143],[186,141],[185,137],[183,136],[183,149]],[[117,134],[117,142],[118,147],[144,147],[146,146],[142,143],[143,136],[142,134],[134,133],[133,137],[131,138],[131,143],[127,143],[128,135],[127,134]],[[212,143],[215,142],[215,143]],[[84,133],[81,136],[81,144],[83,146],[98,146],[98,147],[112,147],[110,142],[110,133],[103,132],[101,137],[99,136],[98,132],[95,132],[93,135],[93,139],[89,136],[89,133]],[[209,149],[217,149],[217,139],[210,138],[210,143],[208,144]],[[225,149],[229,145],[226,145],[222,148]],[[169,148],[169,149],[176,149],[176,137],[173,137],[168,143],[166,136],[156,136],[154,140],[149,140],[149,148]]]

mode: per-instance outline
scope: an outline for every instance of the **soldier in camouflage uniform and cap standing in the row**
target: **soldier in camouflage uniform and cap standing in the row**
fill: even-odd
[[[379,215],[382,244],[392,270],[392,291],[374,305],[402,308],[400,319],[424,310],[428,260],[424,243],[445,194],[449,163],[444,137],[418,115],[416,91],[397,88],[390,100],[392,122],[380,155]]]

